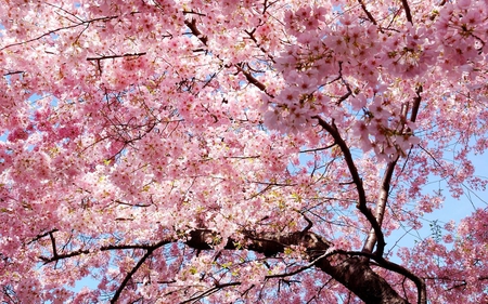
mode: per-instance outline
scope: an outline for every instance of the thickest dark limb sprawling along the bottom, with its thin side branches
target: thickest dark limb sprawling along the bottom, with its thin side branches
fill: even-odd
[[[306,259],[309,260],[309,264],[306,265],[306,268],[316,266],[317,268],[325,272],[333,279],[343,283],[351,292],[358,295],[362,301],[364,301],[364,303],[367,304],[408,303],[391,288],[391,286],[386,280],[384,280],[381,276],[374,273],[373,269],[371,269],[371,267],[369,266],[369,260],[361,259],[361,256],[371,257],[374,261],[376,261],[380,266],[397,272],[410,279],[414,278],[414,276],[408,273],[407,269],[394,263],[387,262],[381,256],[368,254],[364,252],[349,253],[341,251],[331,251],[330,249],[333,244],[330,241],[323,239],[321,236],[307,230],[288,234],[279,234],[279,233],[257,234],[255,232],[244,230],[242,232],[242,234],[244,238],[241,244],[237,243],[237,241],[234,239],[228,239],[223,249],[239,250],[245,248],[248,250],[253,250],[255,252],[264,253],[267,256],[271,256],[278,253],[283,253],[285,248],[290,248],[292,246],[304,247],[306,248],[306,252],[308,254]],[[100,248],[99,249],[100,251],[125,250],[125,249],[146,250],[146,252],[141,257],[141,260],[139,260],[137,265],[124,278],[123,282],[117,289],[117,292],[114,294],[112,299],[112,303],[115,303],[117,299],[119,299],[120,293],[127,286],[130,278],[136,274],[139,267],[151,256],[154,250],[160,248],[164,244],[176,241],[178,241],[178,239],[167,238],[153,244],[112,244]],[[188,238],[184,243],[190,248],[197,250],[213,250],[213,248],[219,244],[219,242],[221,241],[222,240],[219,234],[216,232],[209,229],[195,229],[191,230],[188,234]],[[57,256],[53,256],[50,259],[49,257],[40,257],[40,259],[44,262],[47,261],[53,262],[61,259],[94,252],[95,250],[80,249],[66,254],[57,254]],[[328,260],[328,257],[331,255],[335,256],[333,263]],[[300,268],[299,272],[305,270],[306,268],[304,269]],[[284,276],[291,275],[294,275],[294,273],[284,274]],[[216,286],[216,288],[221,288],[221,286]],[[424,304],[423,302],[419,303]]]

